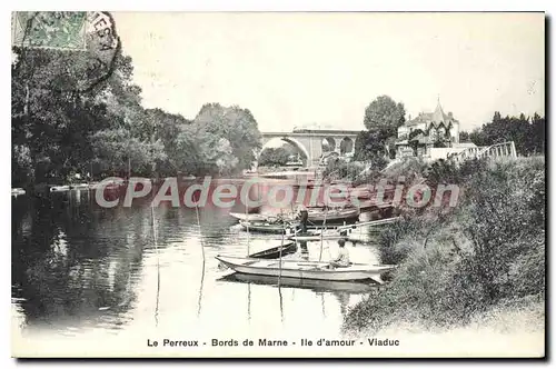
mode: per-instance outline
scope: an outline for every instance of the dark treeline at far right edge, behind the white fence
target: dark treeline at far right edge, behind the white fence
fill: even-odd
[[[471,132],[459,132],[460,142],[473,142],[477,146],[490,146],[495,143],[514,141],[516,151],[520,156],[544,154],[545,152],[545,118],[535,113],[526,117],[502,118],[496,111],[493,121]]]

